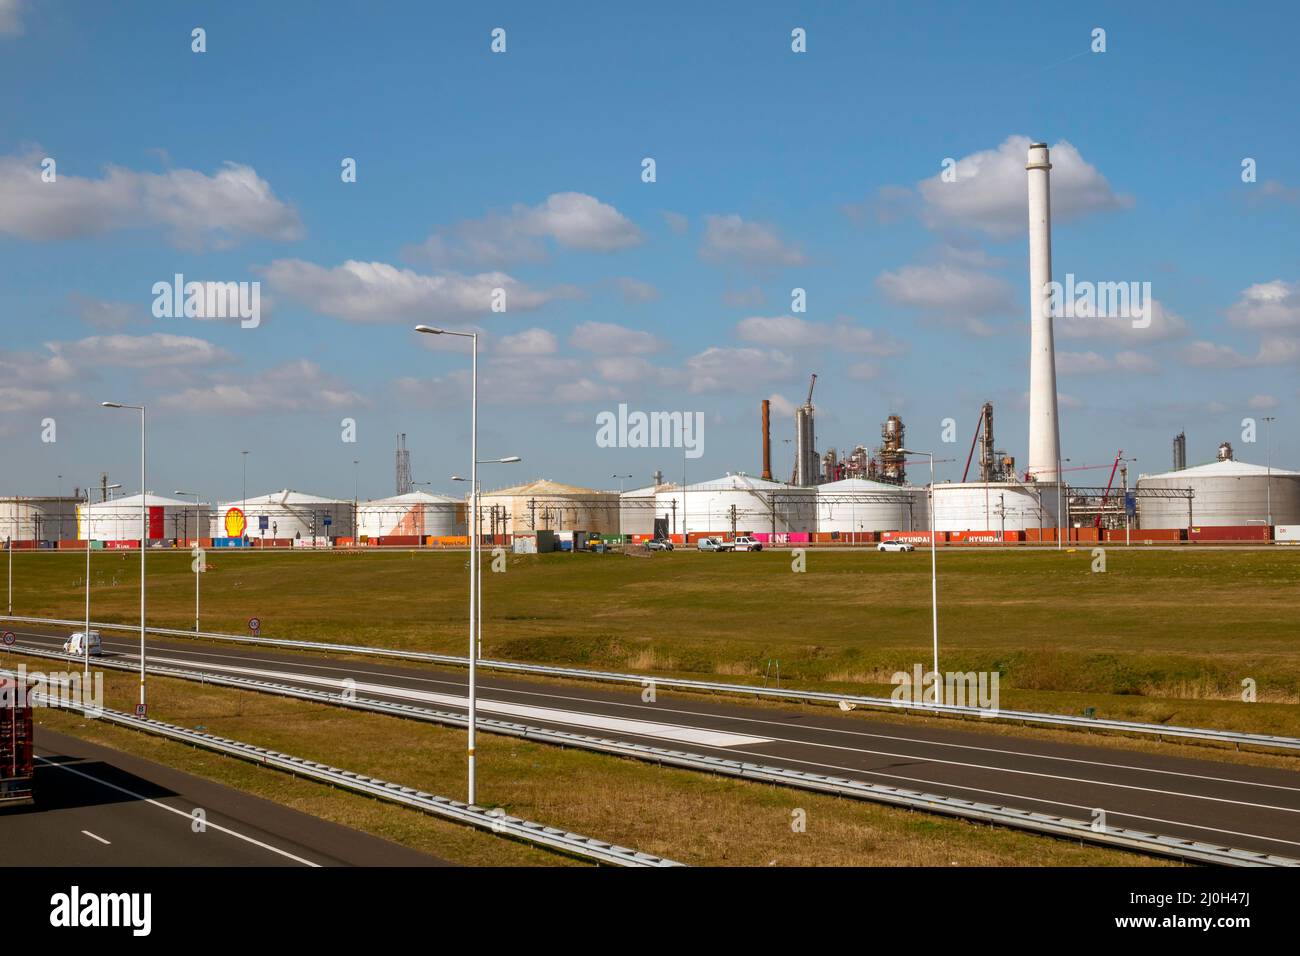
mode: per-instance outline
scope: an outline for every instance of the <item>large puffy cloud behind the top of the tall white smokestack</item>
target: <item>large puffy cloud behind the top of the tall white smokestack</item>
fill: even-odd
[[[942,173],[923,179],[918,189],[924,208],[922,221],[931,229],[961,226],[998,239],[1028,228],[1024,161],[1028,137],[1008,137],[996,150],[982,150],[957,160],[957,178],[944,182]],[[1069,222],[1093,212],[1123,209],[1131,196],[1110,189],[1096,166],[1070,143],[1052,150],[1052,219]]]

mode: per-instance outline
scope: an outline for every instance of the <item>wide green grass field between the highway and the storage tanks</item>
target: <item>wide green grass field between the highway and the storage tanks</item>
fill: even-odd
[[[1002,706],[1300,732],[1300,550],[940,554],[940,663],[994,670]],[[151,554],[150,622],[194,624],[188,554]],[[508,555],[484,653],[887,692],[928,662],[930,559],[875,551]],[[83,554],[17,553],[14,613],[83,613]],[[485,555],[485,568],[491,563]],[[464,553],[209,553],[203,627],[465,652]],[[139,558],[92,557],[92,617],[139,619]],[[0,568],[3,571],[3,568]],[[1240,701],[1242,682],[1257,704]]]

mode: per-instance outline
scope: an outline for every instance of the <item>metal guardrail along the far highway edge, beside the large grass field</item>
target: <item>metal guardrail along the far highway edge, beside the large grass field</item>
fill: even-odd
[[[18,620],[30,624],[58,624],[66,627],[84,627],[83,620],[62,620],[58,618],[25,618],[6,617],[0,614],[0,620]],[[139,627],[130,624],[98,623],[91,622],[91,627],[105,631],[139,631]],[[455,654],[436,654],[425,650],[398,650],[395,648],[370,648],[359,644],[330,644],[325,641],[298,641],[287,637],[254,637],[248,635],[222,633],[220,631],[179,631],[174,628],[151,627],[150,633],[165,637],[199,637],[204,640],[228,641],[235,644],[261,644],[268,646],[290,648],[295,650],[322,650],[328,653],[360,654],[367,657],[391,657],[407,661],[422,661],[428,663],[445,663],[455,667],[465,667],[469,661]],[[1113,731],[1118,734],[1139,734],[1154,736],[1157,739],[1175,737],[1183,740],[1210,740],[1232,747],[1265,747],[1280,750],[1300,752],[1300,737],[1288,737],[1273,734],[1249,734],[1245,731],[1216,730],[1212,727],[1178,727],[1164,723],[1140,723],[1135,721],[1117,721],[1100,717],[1082,717],[1071,714],[1043,714],[1032,710],[997,710],[991,711],[983,708],[961,706],[956,704],[904,704],[889,697],[867,697],[861,695],[832,693],[831,691],[797,691],[792,688],[757,687],[750,684],[728,684],[712,680],[692,680],[689,678],[666,678],[649,674],[620,674],[618,671],[593,671],[581,667],[560,667],[545,663],[523,663],[517,661],[493,661],[480,658],[478,666],[489,670],[514,671],[516,674],[538,674],[545,676],[569,678],[577,680],[597,680],[607,683],[636,684],[638,687],[676,687],[684,691],[701,691],[707,693],[731,693],[757,697],[772,697],[784,700],[816,701],[823,704],[853,704],[854,706],[875,708],[880,710],[893,710],[915,713],[930,717],[978,717],[987,721],[1011,721],[1019,723],[1040,723],[1054,727],[1069,727],[1089,731]]]

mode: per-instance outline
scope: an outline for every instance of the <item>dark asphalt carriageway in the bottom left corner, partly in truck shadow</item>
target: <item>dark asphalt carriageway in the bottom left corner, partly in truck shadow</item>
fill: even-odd
[[[0,809],[12,866],[436,866],[199,777],[36,728],[36,803]],[[202,817],[195,817],[195,809]]]

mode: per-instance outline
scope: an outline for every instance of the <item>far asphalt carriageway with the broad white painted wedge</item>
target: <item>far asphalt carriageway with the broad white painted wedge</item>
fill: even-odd
[[[56,649],[62,632],[17,631]],[[135,637],[104,636],[107,657],[136,661]],[[18,650],[18,648],[16,648]],[[20,652],[21,653],[21,652]],[[257,648],[151,640],[151,662],[276,680],[464,713],[462,669],[329,659]],[[0,656],[3,661],[3,656]],[[481,718],[672,747],[1300,858],[1300,770],[1242,766],[922,726],[826,708],[757,706],[659,689],[620,691],[480,674]],[[1300,766],[1300,762],[1297,762]]]

